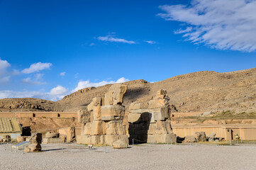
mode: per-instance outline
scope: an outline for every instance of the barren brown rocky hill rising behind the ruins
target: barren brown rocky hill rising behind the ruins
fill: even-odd
[[[158,89],[166,89],[175,112],[256,112],[256,68],[226,73],[194,72],[155,83],[140,79],[124,84],[128,85],[124,106],[139,101],[147,107]],[[95,96],[104,96],[110,86],[81,89],[57,102],[5,98],[0,100],[0,111],[77,111],[86,108]]]

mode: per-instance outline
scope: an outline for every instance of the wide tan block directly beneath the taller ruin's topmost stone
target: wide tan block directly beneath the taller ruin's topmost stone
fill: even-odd
[[[125,108],[120,105],[101,106],[101,120],[115,120],[115,117],[123,117]]]

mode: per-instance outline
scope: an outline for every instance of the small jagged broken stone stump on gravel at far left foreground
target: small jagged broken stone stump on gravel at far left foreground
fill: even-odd
[[[31,145],[28,145],[24,152],[40,152],[42,150],[41,143],[42,143],[42,134],[41,133],[34,133],[30,138]]]

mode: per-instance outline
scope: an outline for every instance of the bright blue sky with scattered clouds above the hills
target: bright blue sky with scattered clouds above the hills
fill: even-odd
[[[0,1],[0,98],[255,67],[256,3]]]

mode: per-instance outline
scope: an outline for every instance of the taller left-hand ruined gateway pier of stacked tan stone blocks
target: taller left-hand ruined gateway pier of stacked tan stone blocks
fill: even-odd
[[[113,145],[120,148],[128,146],[128,136],[123,125],[125,108],[121,106],[127,86],[114,84],[103,98],[93,98],[87,106],[89,118],[78,112],[79,122],[83,123],[83,132],[77,137],[77,142],[92,145]],[[121,141],[121,142],[120,142]],[[116,145],[116,146],[118,146]]]

